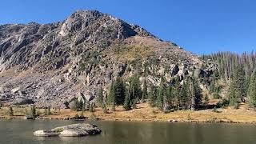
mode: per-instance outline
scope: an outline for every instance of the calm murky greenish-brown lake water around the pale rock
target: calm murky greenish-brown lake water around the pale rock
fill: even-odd
[[[79,123],[57,120],[0,120],[0,144],[247,144],[256,125],[168,122],[89,122],[102,134],[83,138],[38,138],[33,131]]]

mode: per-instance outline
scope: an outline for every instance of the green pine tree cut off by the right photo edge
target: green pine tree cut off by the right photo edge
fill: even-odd
[[[251,107],[256,107],[256,70],[250,77],[250,85],[248,87],[247,97],[249,98],[249,105]]]

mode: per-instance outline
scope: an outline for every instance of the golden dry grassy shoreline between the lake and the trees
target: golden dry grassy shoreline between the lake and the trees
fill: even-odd
[[[14,116],[6,115],[7,107],[0,109],[1,118],[25,118],[27,107],[14,107]],[[238,110],[232,107],[226,109],[213,110],[178,110],[164,114],[157,108],[150,107],[147,103],[138,104],[135,110],[123,110],[122,106],[117,106],[114,112],[108,108],[108,114],[103,114],[101,108],[96,108],[94,113],[83,112],[86,119],[98,119],[102,121],[131,121],[131,122],[228,122],[228,123],[256,123],[256,112],[248,110],[245,105],[240,106]],[[43,110],[38,110],[40,116],[36,119],[56,119],[70,120],[74,115],[80,115],[82,112],[65,110],[51,110],[53,114],[43,115]],[[85,119],[85,120],[86,120]]]

